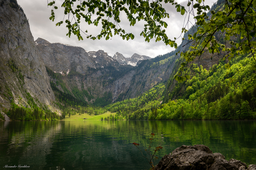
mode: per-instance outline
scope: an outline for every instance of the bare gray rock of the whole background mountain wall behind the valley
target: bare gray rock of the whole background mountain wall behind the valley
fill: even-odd
[[[88,91],[91,91],[90,89],[95,89],[91,91],[95,99],[97,97],[102,97],[105,92],[109,91],[112,92],[113,102],[121,93],[129,94],[125,96],[126,98],[135,97],[139,94],[138,91],[143,93],[145,90],[153,87],[158,81],[161,81],[162,78],[169,78],[168,72],[164,72],[166,75],[163,74],[163,70],[166,68],[162,68],[164,66],[161,66],[161,68],[159,67],[159,69],[157,69],[158,71],[156,71],[156,69],[151,69],[144,73],[147,74],[147,79],[144,80],[143,87],[141,87],[142,80],[139,77],[136,77],[136,80],[132,82],[132,78],[135,74],[134,70],[127,72],[124,76],[103,86],[103,81],[113,79],[113,77],[108,75],[109,68],[112,72],[118,73],[118,69],[124,67],[122,65],[130,64],[136,66],[138,61],[150,59],[150,57],[141,56],[135,53],[131,58],[125,58],[122,54],[116,53],[112,58],[103,50],[85,51],[81,47],[61,43],[50,43],[42,38],[36,39],[35,45],[42,56],[45,65],[51,68],[52,71],[59,72],[64,76],[69,73],[69,70],[86,74],[86,80],[83,80],[84,89]],[[90,71],[89,68],[97,68],[98,71]],[[152,71],[154,71],[154,74],[151,74]],[[144,75],[141,74],[141,76]],[[77,86],[79,90],[82,90],[81,87],[83,86],[80,84],[81,81],[82,80],[76,79],[65,81],[67,89],[72,91],[72,88]],[[137,81],[140,82],[137,83]],[[127,91],[129,91],[129,93],[127,93]],[[93,100],[88,102],[93,102]]]

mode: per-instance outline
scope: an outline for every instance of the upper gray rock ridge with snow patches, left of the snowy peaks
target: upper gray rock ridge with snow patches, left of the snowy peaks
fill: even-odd
[[[89,67],[97,68],[118,64],[103,50],[88,52],[82,47],[50,43],[42,38],[36,39],[35,45],[43,57],[45,65],[52,71],[62,74],[67,74],[71,69],[84,74]]]

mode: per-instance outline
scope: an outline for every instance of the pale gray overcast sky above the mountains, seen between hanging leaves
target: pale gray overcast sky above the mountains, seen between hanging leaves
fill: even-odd
[[[213,4],[212,1],[213,0],[205,0],[205,3],[211,7]],[[138,53],[140,55],[147,55],[154,58],[157,55],[162,55],[174,50],[174,48],[166,46],[163,41],[155,42],[155,39],[152,39],[149,43],[145,42],[144,37],[140,37],[140,32],[143,31],[145,23],[137,22],[134,26],[130,26],[125,15],[121,16],[120,18],[120,26],[126,32],[132,32],[134,34],[135,38],[133,40],[123,40],[118,35],[113,36],[109,40],[105,40],[104,38],[100,40],[86,39],[86,36],[83,34],[81,34],[84,38],[83,41],[78,41],[77,37],[72,34],[70,38],[68,38],[68,36],[66,36],[68,29],[64,25],[65,20],[64,24],[61,26],[55,26],[56,23],[62,21],[64,17],[63,8],[60,7],[61,0],[56,0],[56,5],[59,7],[59,9],[55,10],[54,22],[49,19],[49,17],[51,17],[52,7],[47,7],[47,0],[17,0],[17,2],[23,8],[28,18],[30,30],[34,40],[40,37],[51,43],[59,42],[71,46],[80,46],[86,51],[104,50],[112,57],[116,52],[119,52],[123,54],[124,57],[131,57],[132,54]],[[178,0],[176,2],[185,6],[185,8],[188,8],[187,0]],[[166,33],[169,39],[173,40],[174,37],[178,38],[181,34],[181,28],[183,27],[185,15],[182,16],[180,13],[176,12],[176,9],[171,4],[165,4],[165,10],[170,16],[170,18],[165,20],[165,22],[168,24]],[[81,23],[82,22],[83,21],[81,19]],[[101,31],[100,25],[96,27],[94,25],[84,24],[81,25],[81,29],[83,31],[88,30],[88,34],[92,34],[93,36],[98,35]],[[176,42],[179,45],[181,43],[181,39],[178,39]]]

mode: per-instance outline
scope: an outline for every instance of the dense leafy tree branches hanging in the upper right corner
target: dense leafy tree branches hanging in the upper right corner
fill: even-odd
[[[181,64],[180,72],[175,76],[176,80],[189,78],[188,75],[184,77],[179,75],[189,61],[194,60],[196,56],[200,58],[205,52],[213,54],[223,51],[225,53],[223,60],[228,58],[228,61],[238,54],[251,53],[255,60],[256,1],[225,0],[218,5],[220,9],[212,10],[210,16],[205,9],[202,10],[204,5],[193,5],[193,8],[197,9],[195,16],[197,31],[193,35],[188,34],[188,39],[189,42],[194,43],[194,46],[189,51],[181,53],[186,62]],[[220,38],[224,37],[224,42],[221,42],[220,38],[217,39],[216,34],[220,34]],[[229,69],[230,63],[228,62],[225,67]],[[256,70],[256,65],[251,69]]]

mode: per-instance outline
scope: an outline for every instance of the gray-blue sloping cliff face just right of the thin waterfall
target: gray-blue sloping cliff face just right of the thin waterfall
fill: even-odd
[[[164,60],[157,62],[142,61],[134,70],[115,81],[114,100],[122,101],[140,96],[157,83],[167,81],[173,72],[175,60],[176,56],[166,56]]]

